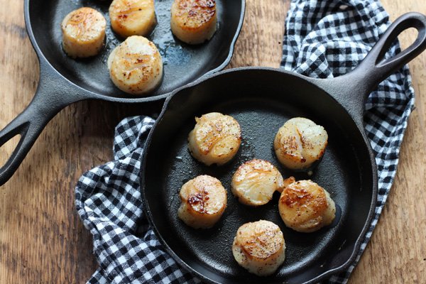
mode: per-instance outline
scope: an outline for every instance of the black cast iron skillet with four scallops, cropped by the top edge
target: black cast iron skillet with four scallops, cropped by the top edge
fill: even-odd
[[[149,97],[136,98],[117,89],[109,79],[107,58],[122,39],[109,24],[111,1],[101,0],[25,0],[24,13],[29,38],[40,62],[40,82],[31,104],[0,132],[0,147],[13,136],[21,140],[6,164],[0,168],[0,185],[11,178],[48,121],[61,109],[83,99],[111,102],[150,102],[164,99],[178,87],[205,74],[222,70],[231,60],[234,43],[244,19],[245,0],[217,0],[219,26],[208,43],[191,46],[170,32],[170,7],[173,0],[156,0],[158,25],[148,37],[163,58],[164,77]],[[60,23],[72,10],[90,6],[107,18],[107,41],[102,53],[87,60],[72,60],[62,50]]]

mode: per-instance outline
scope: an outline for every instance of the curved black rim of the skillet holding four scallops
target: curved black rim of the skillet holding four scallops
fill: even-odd
[[[122,103],[155,102],[155,101],[160,101],[161,99],[166,99],[166,98],[170,97],[170,95],[176,90],[175,89],[172,92],[168,92],[168,93],[165,93],[165,94],[158,94],[158,95],[155,95],[155,96],[148,96],[148,97],[137,97],[137,98],[133,99],[133,98],[124,98],[124,97],[112,97],[112,96],[108,96],[108,95],[104,95],[104,94],[99,94],[97,92],[92,92],[92,91],[89,91],[88,89],[80,87],[80,85],[75,84],[74,82],[68,80],[67,77],[63,76],[58,70],[56,70],[55,67],[53,67],[53,65],[50,64],[49,60],[47,58],[45,58],[43,51],[41,51],[40,47],[38,46],[37,40],[35,40],[35,36],[34,36],[34,33],[33,33],[33,26],[31,24],[31,20],[30,20],[30,9],[29,9],[30,1],[35,1],[35,0],[24,0],[23,13],[24,13],[26,31],[28,33],[28,38],[30,38],[31,45],[33,45],[33,49],[34,49],[35,54],[37,55],[37,58],[38,58],[40,76],[43,73],[42,71],[45,68],[47,68],[46,71],[53,72],[53,73],[55,73],[55,75],[59,75],[62,80],[65,80],[65,82],[67,82],[67,84],[72,85],[72,87],[79,89],[81,93],[85,94],[85,96],[82,97],[82,98],[80,96],[76,96],[76,97],[80,97],[80,98],[76,99],[77,101],[78,100],[84,100],[84,99],[102,99],[102,100],[107,101],[107,102],[122,102]],[[209,75],[212,75],[216,72],[223,70],[224,67],[226,67],[226,65],[228,65],[229,62],[231,61],[231,58],[234,55],[235,43],[236,43],[236,40],[239,38],[239,34],[241,33],[241,28],[243,26],[244,17],[245,17],[245,14],[246,14],[246,0],[240,0],[240,1],[241,1],[241,11],[240,11],[240,14],[239,14],[239,23],[238,23],[238,26],[236,27],[234,37],[231,40],[231,44],[229,45],[229,52],[228,52],[228,55],[226,56],[224,62],[222,62],[221,65],[210,70],[209,72],[204,73],[203,75],[201,75],[199,78],[197,78],[193,82],[196,82],[197,80],[199,80],[200,78],[202,78],[204,76],[209,76]],[[192,82],[190,82],[189,84],[191,84],[191,83]],[[38,80],[38,84],[40,84],[40,79]],[[182,87],[185,87],[186,85],[189,85],[189,84],[185,84],[185,85],[179,87],[178,89],[181,89]]]

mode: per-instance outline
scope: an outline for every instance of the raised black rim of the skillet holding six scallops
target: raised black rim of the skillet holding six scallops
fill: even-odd
[[[279,73],[284,74],[284,75],[299,77],[300,79],[304,80],[307,84],[312,84],[315,87],[322,89],[325,93],[327,93],[329,95],[329,97],[332,97],[332,99],[334,99],[334,101],[337,104],[339,104],[344,109],[344,111],[346,111],[346,113],[351,117],[352,122],[357,126],[356,128],[358,129],[359,133],[361,134],[361,136],[364,140],[364,146],[366,146],[366,148],[367,148],[368,155],[369,155],[369,158],[370,158],[371,168],[373,170],[372,176],[371,176],[371,178],[373,180],[373,184],[372,184],[373,190],[371,192],[372,198],[371,198],[370,209],[368,211],[368,216],[367,216],[366,222],[364,223],[364,227],[361,230],[361,233],[356,238],[356,241],[355,241],[355,244],[354,244],[354,249],[352,250],[351,256],[349,256],[348,260],[342,266],[330,269],[329,271],[326,271],[326,272],[324,272],[320,275],[317,275],[317,277],[306,281],[304,284],[318,283],[319,281],[324,280],[325,278],[328,278],[329,276],[332,276],[332,275],[335,275],[337,273],[345,271],[347,268],[349,268],[349,266],[351,266],[351,264],[353,264],[356,261],[356,258],[358,256],[358,251],[361,248],[361,244],[364,241],[366,234],[368,232],[368,229],[371,226],[371,221],[373,219],[375,209],[376,209],[377,193],[378,193],[378,172],[377,172],[376,157],[373,154],[373,149],[371,148],[371,142],[368,140],[368,138],[366,136],[365,129],[364,128],[360,129],[359,124],[357,124],[356,119],[354,119],[354,116],[352,116],[349,113],[349,111],[336,99],[336,97],[334,97],[331,93],[327,92],[324,89],[324,87],[325,87],[324,82],[326,81],[324,79],[306,77],[304,75],[300,75],[298,73],[290,72],[290,71],[283,70],[283,69],[280,69],[280,68],[252,67],[252,66],[249,67],[248,66],[248,67],[231,68],[231,69],[228,69],[228,70],[222,70],[220,72],[216,72],[214,74],[204,75],[204,76],[200,77],[198,80],[191,82],[190,84],[186,84],[185,86],[182,86],[178,89],[175,89],[170,94],[170,96],[167,99],[165,99],[165,102],[163,104],[163,108],[161,109],[160,115],[158,116],[157,119],[155,119],[155,123],[153,124],[153,127],[149,131],[148,137],[146,138],[146,143],[145,143],[145,146],[144,146],[142,163],[141,163],[141,169],[142,169],[141,170],[141,198],[142,198],[142,202],[143,202],[143,211],[146,213],[146,217],[147,217],[149,223],[151,224],[151,226],[153,226],[153,229],[155,231],[156,236],[158,237],[158,239],[160,241],[160,244],[163,245],[165,251],[170,256],[172,256],[173,259],[180,264],[180,266],[184,267],[185,269],[187,269],[187,271],[190,271],[192,273],[192,275],[195,275],[197,278],[200,278],[201,280],[206,281],[207,283],[217,283],[214,280],[211,280],[211,279],[207,278],[206,276],[202,275],[198,271],[195,271],[195,269],[193,269],[191,266],[187,265],[187,263],[182,261],[182,259],[172,249],[170,249],[170,246],[168,246],[166,241],[163,239],[163,236],[158,231],[157,226],[155,226],[155,224],[153,222],[153,216],[151,214],[151,209],[149,208],[149,204],[146,200],[146,195],[145,195],[145,191],[146,191],[146,181],[145,181],[146,180],[146,170],[145,170],[146,169],[146,160],[147,160],[147,155],[148,155],[148,152],[149,152],[148,148],[151,145],[151,141],[152,141],[153,133],[155,132],[155,128],[163,120],[165,112],[168,111],[169,103],[170,103],[171,99],[173,99],[173,97],[176,94],[178,94],[183,89],[190,89],[192,87],[195,87],[198,84],[202,84],[204,81],[210,80],[211,78],[222,76],[222,75],[228,74],[228,73],[245,72],[245,71],[279,72]],[[350,74],[350,72],[347,73],[347,74]]]

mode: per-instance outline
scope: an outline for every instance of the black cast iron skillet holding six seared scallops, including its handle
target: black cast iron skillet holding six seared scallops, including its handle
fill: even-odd
[[[415,43],[383,60],[398,34],[411,27],[418,31]],[[148,136],[141,175],[146,214],[165,250],[209,283],[317,283],[344,271],[366,235],[378,190],[376,162],[363,127],[364,102],[379,82],[425,48],[426,17],[407,13],[347,75],[312,79],[283,70],[246,67],[203,77],[173,92]],[[234,116],[242,130],[239,153],[221,167],[207,167],[187,150],[194,117],[210,111]],[[294,116],[312,119],[329,133],[329,146],[312,176],[285,170],[273,151],[276,131]],[[230,192],[231,176],[252,158],[271,161],[285,178],[312,179],[326,188],[337,204],[334,224],[311,234],[297,233],[280,219],[277,193],[258,208],[236,201]],[[228,190],[224,216],[206,230],[192,229],[177,217],[180,187],[201,174],[219,178]],[[231,253],[239,226],[259,219],[278,224],[287,246],[285,263],[267,278],[239,267]]]

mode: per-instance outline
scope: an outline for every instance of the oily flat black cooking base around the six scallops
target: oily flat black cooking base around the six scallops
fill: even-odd
[[[239,280],[247,278],[247,280],[253,281],[256,276],[238,266],[234,260],[231,244],[236,229],[241,224],[266,219],[280,226],[287,247],[285,262],[278,270],[278,274],[272,275],[272,278],[300,270],[312,261],[320,261],[325,264],[327,249],[339,249],[339,246],[342,246],[342,244],[335,244],[334,237],[337,236],[338,231],[344,229],[341,224],[344,223],[348,213],[346,208],[351,192],[347,192],[345,189],[360,187],[357,175],[345,175],[345,173],[356,173],[357,162],[356,159],[343,160],[343,157],[350,157],[351,155],[348,153],[353,153],[353,150],[351,146],[344,143],[346,139],[336,136],[336,133],[341,133],[341,131],[338,131],[336,126],[327,124],[319,117],[312,117],[301,109],[290,108],[285,105],[278,106],[276,102],[268,102],[266,99],[234,100],[226,102],[226,104],[219,104],[206,112],[209,111],[220,111],[239,121],[243,141],[239,153],[230,163],[220,167],[215,165],[208,167],[192,158],[187,150],[187,134],[195,125],[194,119],[185,121],[185,126],[178,129],[176,136],[174,136],[163,163],[161,180],[165,180],[165,185],[163,186],[162,199],[169,200],[167,216],[168,224],[170,224],[170,235],[178,236],[182,251],[196,252],[192,257],[219,273],[234,275]],[[197,115],[200,116],[201,114]],[[273,151],[273,139],[276,131],[285,121],[295,116],[310,118],[329,130],[329,146],[322,162],[311,176],[307,173],[295,173],[286,170],[275,158]],[[324,187],[337,204],[337,216],[333,224],[310,234],[298,233],[288,229],[278,213],[280,196],[278,192],[275,192],[271,202],[261,207],[247,207],[239,203],[231,194],[231,178],[239,165],[253,158],[271,161],[273,165],[278,167],[284,178],[293,175],[297,180],[312,179]],[[227,191],[228,205],[224,216],[212,229],[196,230],[185,226],[178,219],[176,214],[180,205],[178,194],[183,183],[202,174],[212,175],[221,180]]]

